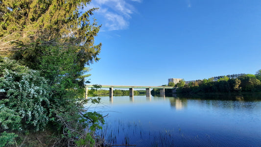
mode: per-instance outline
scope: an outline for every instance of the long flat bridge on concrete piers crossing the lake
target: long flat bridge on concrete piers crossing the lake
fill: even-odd
[[[113,88],[128,88],[130,92],[130,97],[134,96],[134,89],[146,89],[146,97],[150,97],[150,89],[160,89],[161,97],[165,97],[165,89],[172,89],[172,94],[176,93],[178,87],[169,87],[169,86],[115,86],[115,85],[99,85],[100,88],[109,88],[110,89],[110,98],[113,97]],[[93,85],[85,85],[86,87],[86,96],[88,94],[88,88],[94,88]]]

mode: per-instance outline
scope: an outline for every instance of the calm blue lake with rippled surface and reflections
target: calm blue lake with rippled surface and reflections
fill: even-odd
[[[99,133],[113,145],[261,147],[261,98],[101,98],[88,107],[109,114]]]

